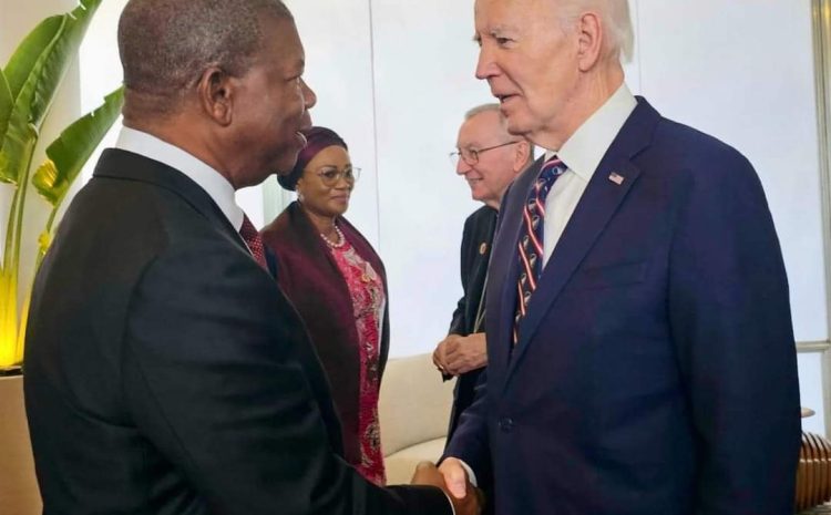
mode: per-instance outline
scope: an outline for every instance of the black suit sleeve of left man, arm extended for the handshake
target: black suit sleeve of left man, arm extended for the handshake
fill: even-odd
[[[123,389],[142,433],[212,513],[450,514],[438,488],[380,488],[338,456],[297,318],[226,247],[168,250],[133,293]]]

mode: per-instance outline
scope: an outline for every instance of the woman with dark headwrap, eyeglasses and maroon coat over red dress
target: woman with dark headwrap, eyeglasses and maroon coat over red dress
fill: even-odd
[[[263,229],[277,281],[306,322],[332,387],[345,456],[367,480],[386,482],[378,393],[389,349],[387,278],[372,246],[343,218],[360,168],[334,131],[311,127],[280,185],[297,192]]]

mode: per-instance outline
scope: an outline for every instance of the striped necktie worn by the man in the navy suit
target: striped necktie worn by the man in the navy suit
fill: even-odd
[[[520,321],[525,317],[531,295],[543,272],[543,235],[545,233],[545,197],[548,196],[554,181],[567,166],[554,155],[543,164],[540,175],[531,188],[525,207],[522,210],[522,227],[517,244],[520,277],[516,281],[516,315],[514,316],[513,342],[520,340]]]

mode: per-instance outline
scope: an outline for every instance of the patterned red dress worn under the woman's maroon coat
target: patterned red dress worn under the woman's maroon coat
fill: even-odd
[[[378,424],[378,394],[381,387],[379,374],[381,325],[387,299],[383,295],[383,282],[372,266],[358,255],[342,233],[339,231],[338,236],[340,237],[338,244],[325,239],[349,287],[360,343],[358,431],[361,463],[358,472],[368,481],[383,485],[387,476]]]

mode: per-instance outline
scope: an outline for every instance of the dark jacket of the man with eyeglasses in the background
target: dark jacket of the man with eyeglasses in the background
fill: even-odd
[[[485,278],[488,277],[488,261],[491,257],[493,230],[496,227],[499,212],[490,206],[482,206],[464,220],[461,248],[461,277],[464,295],[459,299],[453,320],[450,322],[450,333],[468,336],[473,332],[484,332],[484,323],[475,328],[476,315],[483,301]],[[484,306],[481,307],[484,311]],[[473,391],[484,367],[459,375],[453,390],[453,408],[450,412],[448,437],[452,436],[459,415],[473,402]]]

